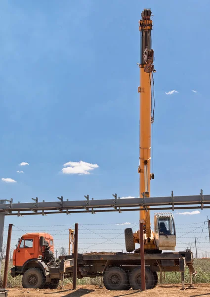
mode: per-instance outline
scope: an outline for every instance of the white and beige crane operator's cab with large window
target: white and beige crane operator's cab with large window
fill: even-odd
[[[172,213],[155,213],[154,230],[155,243],[159,250],[175,250],[176,232]]]

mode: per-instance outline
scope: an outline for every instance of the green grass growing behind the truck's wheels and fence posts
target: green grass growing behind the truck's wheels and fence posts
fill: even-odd
[[[12,263],[9,264],[9,271],[8,271],[8,279],[7,279],[7,288],[14,288],[14,287],[22,287],[21,284],[21,276],[12,278],[10,276],[10,268],[12,267]],[[195,278],[195,283],[210,283],[210,259],[195,259],[194,260],[194,267],[197,271],[198,275]],[[0,286],[2,286],[3,282],[3,271],[4,271],[4,262],[2,262],[1,267],[1,276],[0,276]],[[159,280],[160,280],[160,273],[159,274]],[[164,273],[163,273],[163,284],[180,284],[181,278],[179,272],[166,272],[165,273],[165,279],[164,279]],[[189,269],[186,267],[185,269],[185,283],[189,283]],[[65,279],[64,285],[71,284],[72,279]],[[101,284],[101,278],[83,278],[78,279],[77,281],[78,285],[94,285],[94,286],[100,286]]]

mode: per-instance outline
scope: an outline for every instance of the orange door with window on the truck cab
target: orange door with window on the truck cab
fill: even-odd
[[[34,258],[34,239],[22,239],[16,252],[16,266],[23,264]]]

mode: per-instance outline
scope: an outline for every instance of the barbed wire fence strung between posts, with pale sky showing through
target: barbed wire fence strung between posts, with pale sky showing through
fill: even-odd
[[[195,237],[198,258],[210,257],[209,230],[206,228],[207,221],[195,223],[176,224],[176,250],[191,249],[196,256]],[[104,224],[80,224],[79,225],[79,253],[87,252],[126,252],[124,230],[132,228],[138,231],[139,222],[134,223],[104,223]],[[153,225],[151,225],[153,228]],[[16,248],[18,238],[26,233],[49,233],[54,238],[54,253],[59,255],[61,247],[65,248],[66,254],[69,249],[69,229],[74,225],[14,225],[10,247],[10,258]],[[4,228],[3,246],[6,246],[8,226]],[[137,245],[136,245],[137,247]]]

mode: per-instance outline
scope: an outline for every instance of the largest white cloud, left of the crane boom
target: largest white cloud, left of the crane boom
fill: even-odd
[[[80,162],[68,162],[63,165],[66,168],[62,169],[64,174],[90,174],[89,171],[98,168],[97,164]]]

